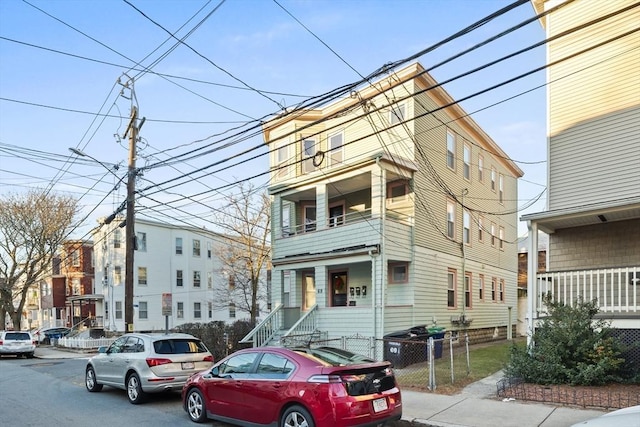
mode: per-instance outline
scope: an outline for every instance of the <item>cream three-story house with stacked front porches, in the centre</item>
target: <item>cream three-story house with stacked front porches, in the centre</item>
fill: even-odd
[[[245,341],[506,336],[522,172],[420,64],[263,130],[273,311]]]

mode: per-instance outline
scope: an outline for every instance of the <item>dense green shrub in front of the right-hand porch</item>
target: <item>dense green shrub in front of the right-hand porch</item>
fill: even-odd
[[[531,344],[514,346],[505,373],[535,384],[602,385],[623,379],[622,344],[608,322],[594,320],[596,301],[578,298],[573,306],[543,298],[549,316]]]

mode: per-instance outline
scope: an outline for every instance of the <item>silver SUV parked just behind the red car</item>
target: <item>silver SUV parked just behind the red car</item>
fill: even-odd
[[[129,402],[138,404],[147,393],[181,390],[190,375],[212,365],[213,356],[192,335],[130,333],[89,359],[85,386],[90,392],[104,385],[126,390]]]

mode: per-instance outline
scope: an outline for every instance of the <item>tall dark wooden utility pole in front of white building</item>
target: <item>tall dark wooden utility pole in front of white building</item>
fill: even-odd
[[[138,109],[131,107],[131,120],[124,133],[129,133],[129,168],[127,173],[127,219],[125,225],[125,276],[124,276],[124,331],[133,332],[133,256],[136,250],[135,191],[136,191],[136,141],[138,139]]]

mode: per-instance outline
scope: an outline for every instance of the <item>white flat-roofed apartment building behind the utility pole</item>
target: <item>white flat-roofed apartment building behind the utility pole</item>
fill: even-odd
[[[104,296],[107,330],[125,328],[124,218],[93,232],[97,292]],[[219,259],[224,236],[195,227],[178,227],[136,218],[133,324],[135,331],[164,331],[185,323],[233,322],[248,318],[219,289],[231,286]],[[266,309],[266,304],[263,307]]]

